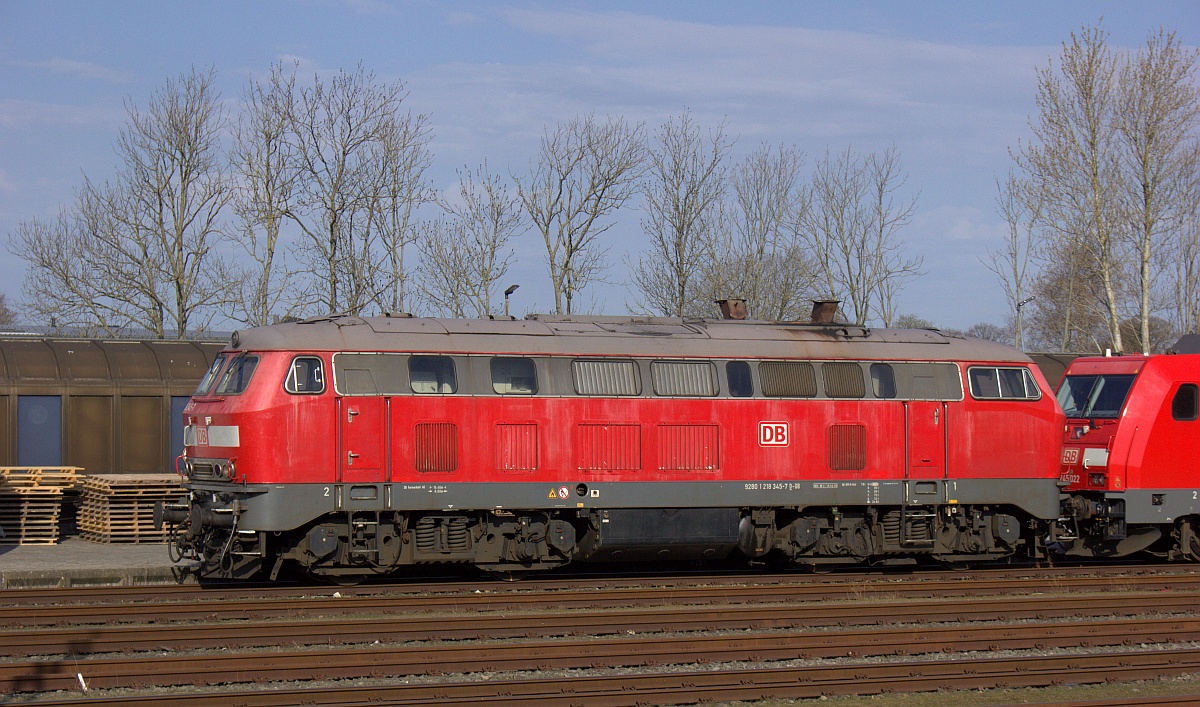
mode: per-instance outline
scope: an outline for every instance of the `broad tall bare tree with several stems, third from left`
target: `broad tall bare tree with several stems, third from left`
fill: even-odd
[[[319,76],[288,103],[295,187],[286,210],[304,233],[300,259],[326,312],[403,310],[412,209],[431,198],[427,116],[403,110],[401,82],[359,66]]]

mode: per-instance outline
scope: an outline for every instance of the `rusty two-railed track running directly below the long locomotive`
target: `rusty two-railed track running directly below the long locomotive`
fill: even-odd
[[[598,583],[600,585],[598,587]],[[169,589],[169,591],[163,591]],[[529,583],[422,583],[331,589],[186,587],[121,587],[96,591],[6,591],[0,627],[53,627],[115,621],[230,621],[305,615],[412,613],[414,611],[574,610],[640,605],[736,605],[796,601],[838,601],[871,598],[988,597],[997,593],[1069,594],[1082,592],[1200,592],[1200,574],[1170,570],[1129,575],[1096,570],[1038,573],[1037,576],[983,575],[966,580],[961,573],[917,575],[916,579],[840,577],[820,582],[808,576],[704,576],[688,583],[655,579],[652,586],[629,580],[540,581]],[[212,598],[220,595],[215,604]]]

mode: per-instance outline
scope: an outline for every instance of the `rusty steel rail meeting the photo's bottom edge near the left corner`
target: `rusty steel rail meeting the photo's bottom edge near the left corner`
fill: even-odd
[[[136,705],[168,707],[214,705],[275,707],[281,705],[440,706],[488,705],[529,707],[572,705],[624,707],[696,701],[812,699],[823,695],[869,695],[884,691],[923,693],[989,688],[1158,679],[1200,671],[1200,651],[1072,654],[977,660],[836,666],[721,670],[572,676],[512,681],[384,684],[374,687],[196,691],[166,695],[97,697],[40,702],[46,706]]]

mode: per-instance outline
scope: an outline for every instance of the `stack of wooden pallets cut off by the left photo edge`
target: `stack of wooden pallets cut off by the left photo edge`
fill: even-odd
[[[59,541],[62,495],[79,484],[79,467],[0,467],[0,545]]]

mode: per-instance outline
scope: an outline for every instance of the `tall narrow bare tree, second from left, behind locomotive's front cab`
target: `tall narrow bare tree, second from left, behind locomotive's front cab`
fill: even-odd
[[[251,79],[234,131],[230,162],[238,173],[233,209],[238,239],[251,265],[241,266],[241,296],[233,314],[251,326],[270,324],[301,311],[298,274],[289,269],[283,227],[296,188],[294,140],[295,73],[271,67],[266,83]]]

